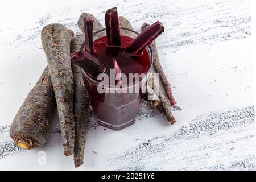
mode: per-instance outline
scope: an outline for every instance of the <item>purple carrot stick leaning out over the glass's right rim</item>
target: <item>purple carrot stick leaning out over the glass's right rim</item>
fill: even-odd
[[[153,40],[155,40],[160,34],[164,32],[164,26],[161,22],[157,21],[151,26],[147,27],[146,30],[141,32],[126,48],[126,53],[133,53],[139,55],[143,52]]]

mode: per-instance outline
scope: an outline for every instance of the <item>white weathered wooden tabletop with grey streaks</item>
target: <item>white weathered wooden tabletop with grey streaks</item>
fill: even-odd
[[[90,118],[85,164],[96,169],[256,169],[250,2],[246,0],[5,1],[0,7],[0,169],[75,169],[63,155],[56,114],[51,137],[38,150],[23,151],[9,125],[46,66],[40,31],[63,23],[80,34],[83,11],[104,24],[118,13],[139,31],[143,22],[166,27],[159,56],[183,110],[169,126],[143,106],[137,122],[104,130]],[[46,164],[38,164],[39,151]]]

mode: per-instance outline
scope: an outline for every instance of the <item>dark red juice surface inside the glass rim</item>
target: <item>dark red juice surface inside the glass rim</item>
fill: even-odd
[[[129,73],[146,73],[150,67],[150,55],[144,49],[141,55],[131,55],[123,52],[123,49],[128,46],[133,39],[128,36],[121,36],[122,46],[108,46],[106,36],[99,38],[93,42],[93,49],[96,57],[107,67],[105,73],[110,78],[110,69],[114,69],[113,59],[117,60],[121,72],[127,77],[127,82],[131,83],[134,80],[129,80]]]

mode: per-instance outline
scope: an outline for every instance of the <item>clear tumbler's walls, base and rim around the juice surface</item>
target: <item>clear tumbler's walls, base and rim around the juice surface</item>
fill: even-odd
[[[138,33],[129,30],[128,28],[121,28],[121,35],[135,38]],[[106,36],[105,28],[94,33],[93,41]],[[85,43],[84,43],[85,44]],[[81,50],[84,49],[84,44]],[[146,72],[146,76],[142,79],[135,80],[130,84],[123,85],[123,89],[134,90],[134,88],[146,88],[146,81],[152,69],[152,50],[150,46],[146,47],[148,55],[150,56],[150,65]],[[108,87],[109,93],[99,93],[97,88],[100,82],[90,76],[81,69],[84,83],[88,91],[90,105],[98,119],[98,123],[102,126],[109,127],[114,130],[120,130],[123,127],[129,126],[135,122],[139,101],[142,93],[116,93],[113,85],[105,85]]]

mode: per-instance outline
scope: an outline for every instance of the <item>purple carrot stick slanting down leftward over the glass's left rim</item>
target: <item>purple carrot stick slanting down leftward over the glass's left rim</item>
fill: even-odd
[[[86,73],[93,76],[98,76],[100,73],[105,72],[106,67],[93,55],[88,52],[78,51],[70,55],[71,61],[82,68]]]

